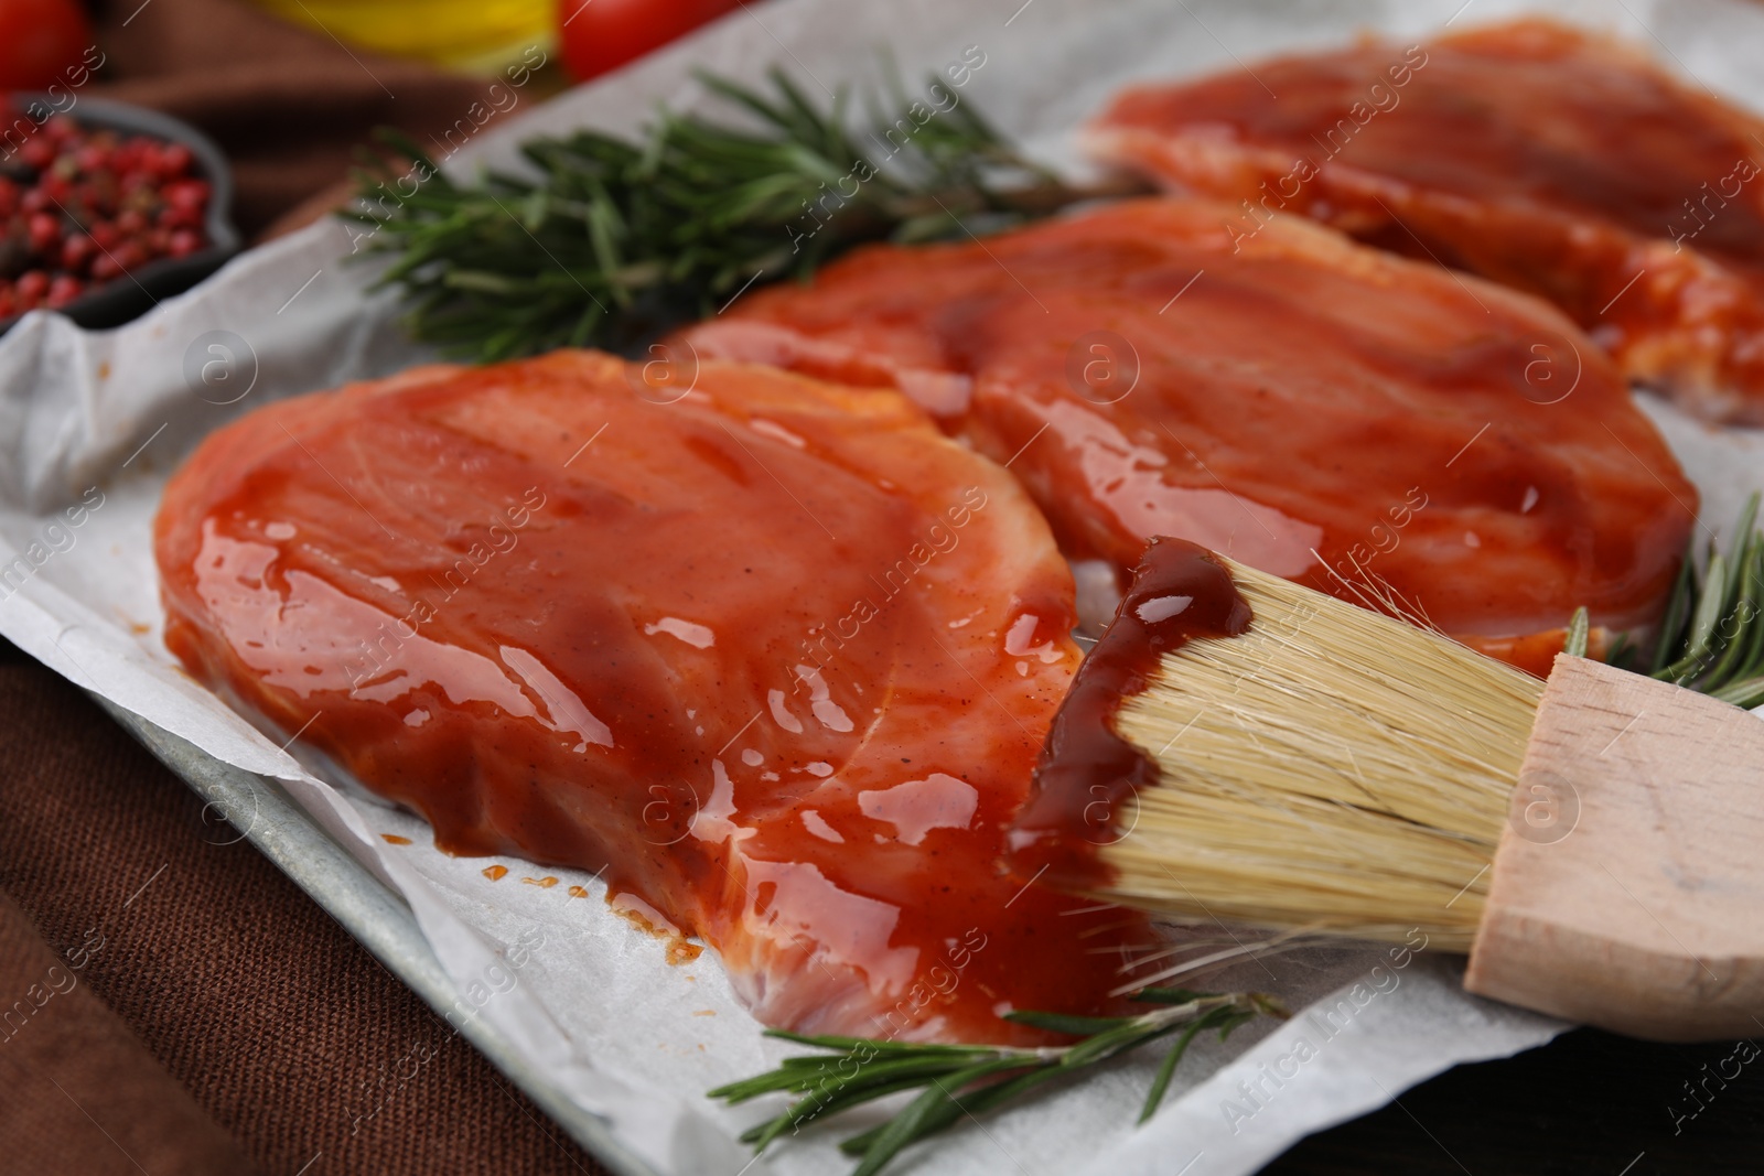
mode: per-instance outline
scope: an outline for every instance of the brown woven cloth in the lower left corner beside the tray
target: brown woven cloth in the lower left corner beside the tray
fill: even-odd
[[[0,1172],[605,1172],[4,640],[0,1030]]]

